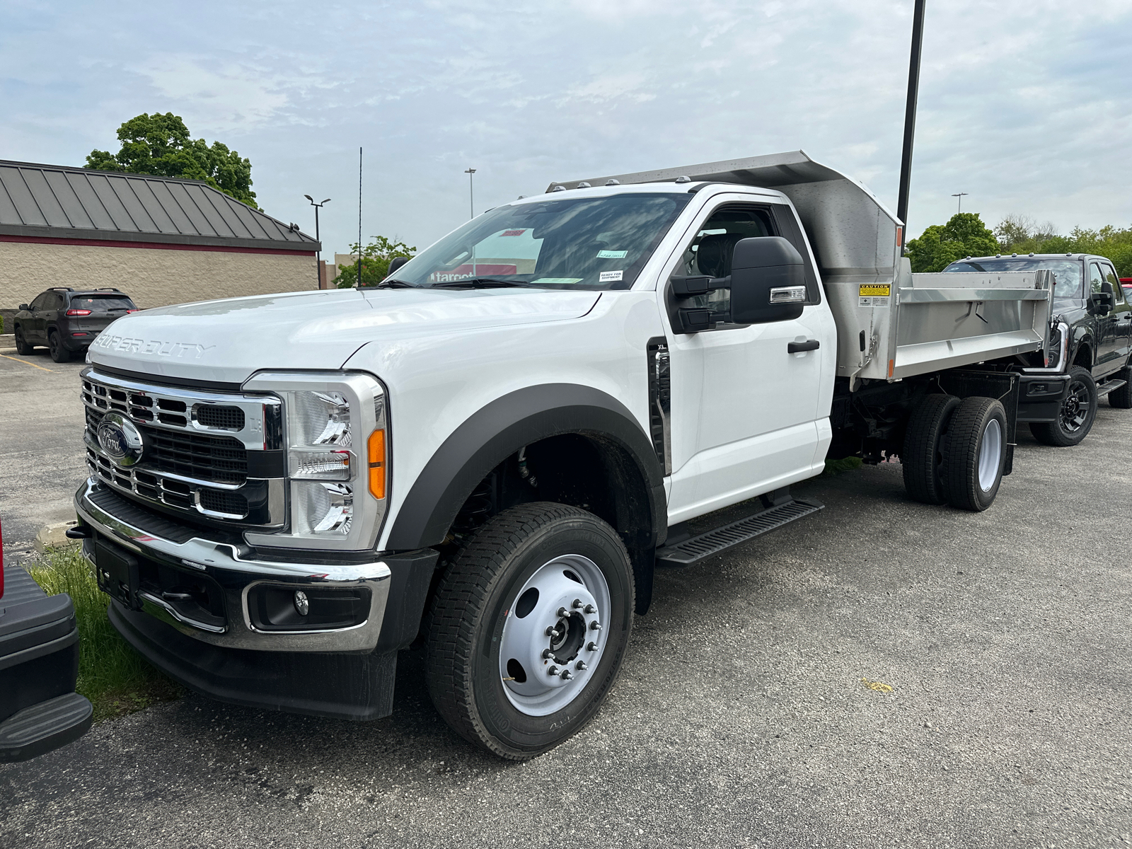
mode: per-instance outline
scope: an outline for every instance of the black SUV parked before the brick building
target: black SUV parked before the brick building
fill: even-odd
[[[115,318],[136,311],[129,295],[117,289],[54,286],[29,305],[19,305],[12,319],[16,350],[29,354],[36,345],[46,345],[52,360],[67,362],[71,354],[86,351]]]

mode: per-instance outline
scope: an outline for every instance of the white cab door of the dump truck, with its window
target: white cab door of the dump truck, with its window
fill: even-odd
[[[737,241],[786,234],[775,217],[783,213],[792,215],[786,206],[734,201],[710,208],[659,284],[666,311],[672,308],[672,274],[727,276]],[[823,362],[837,355],[837,333],[816,276],[813,280],[811,303],[795,320],[720,323],[693,334],[670,326],[670,521],[808,478],[815,464],[824,463],[818,446],[823,439],[827,443],[830,393],[822,392]],[[729,293],[718,291],[701,299],[695,306],[724,311]],[[820,348],[790,353],[791,342],[817,342]],[[832,361],[826,370],[832,387]]]

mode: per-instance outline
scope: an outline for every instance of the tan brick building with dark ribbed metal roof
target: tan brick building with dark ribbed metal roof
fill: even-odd
[[[0,311],[50,286],[143,308],[317,289],[319,245],[196,180],[0,160]]]

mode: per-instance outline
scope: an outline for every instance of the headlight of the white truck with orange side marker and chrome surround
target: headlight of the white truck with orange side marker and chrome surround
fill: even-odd
[[[284,533],[249,532],[252,544],[360,550],[372,547],[386,512],[385,392],[369,375],[257,375],[248,391],[283,400],[291,496]]]

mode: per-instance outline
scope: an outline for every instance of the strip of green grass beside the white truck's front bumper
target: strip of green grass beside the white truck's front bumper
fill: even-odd
[[[91,700],[96,721],[182,694],[178,684],[149,666],[114,631],[106,618],[109,597],[98,590],[91,565],[77,548],[49,551],[29,571],[49,594],[65,592],[75,603],[79,633],[76,689]]]

